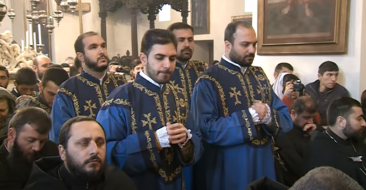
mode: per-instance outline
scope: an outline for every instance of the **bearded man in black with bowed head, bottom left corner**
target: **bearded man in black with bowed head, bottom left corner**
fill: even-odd
[[[22,189],[32,164],[44,156],[56,156],[57,145],[48,140],[51,119],[46,111],[18,110],[9,123],[7,139],[0,146],[0,189]]]

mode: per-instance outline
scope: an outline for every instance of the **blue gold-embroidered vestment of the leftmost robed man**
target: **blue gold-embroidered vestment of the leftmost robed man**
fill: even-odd
[[[124,83],[123,75],[107,73],[100,81],[84,70],[62,83],[52,106],[50,140],[58,143],[61,126],[73,117],[95,118],[109,94]]]

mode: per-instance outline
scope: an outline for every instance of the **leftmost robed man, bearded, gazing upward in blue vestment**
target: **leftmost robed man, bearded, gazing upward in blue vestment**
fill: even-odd
[[[54,142],[58,141],[63,123],[79,115],[95,118],[109,94],[116,87],[126,83],[123,75],[107,73],[107,47],[97,33],[81,34],[74,46],[83,71],[65,81],[56,95],[51,111],[50,134],[50,139]]]

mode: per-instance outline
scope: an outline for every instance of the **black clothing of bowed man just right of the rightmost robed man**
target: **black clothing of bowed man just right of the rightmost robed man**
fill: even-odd
[[[303,166],[306,151],[309,146],[310,135],[306,134],[302,128],[294,126],[292,130],[276,138],[278,153],[285,164],[285,169],[281,168],[284,184],[292,186],[295,181],[304,175]]]

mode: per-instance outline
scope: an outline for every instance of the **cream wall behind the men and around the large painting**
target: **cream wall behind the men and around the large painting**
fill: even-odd
[[[255,1],[255,0],[253,0]],[[100,18],[98,16],[98,0],[83,0],[92,4],[92,11],[83,15],[84,31],[94,30],[100,32]],[[350,23],[349,23],[349,49],[345,55],[307,55],[307,56],[256,56],[255,65],[262,66],[269,78],[273,81],[273,70],[279,62],[290,62],[295,67],[295,72],[306,84],[317,79],[318,66],[326,61],[336,62],[341,69],[340,84],[349,89],[352,96],[359,99],[360,93],[366,88],[366,2],[350,1]],[[253,25],[256,29],[257,11],[254,3]],[[214,59],[220,59],[224,52],[224,29],[231,21],[231,16],[243,15],[243,0],[211,0],[211,27],[210,34],[197,35],[196,40],[214,40]],[[364,12],[364,13],[363,13]],[[166,28],[169,24],[181,21],[180,13],[172,10],[171,21],[156,21],[156,28]],[[190,23],[190,18],[188,19]],[[149,28],[147,15],[138,16],[138,39]],[[126,10],[119,10],[116,13],[109,13],[107,19],[107,35],[109,55],[117,53],[124,54],[131,50],[131,29],[130,17]],[[60,26],[55,29],[55,60],[61,63],[65,57],[74,56],[73,43],[79,35],[78,17],[65,14]],[[202,49],[202,48],[201,48]],[[199,48],[197,49],[199,51]],[[300,72],[301,71],[301,72]]]

